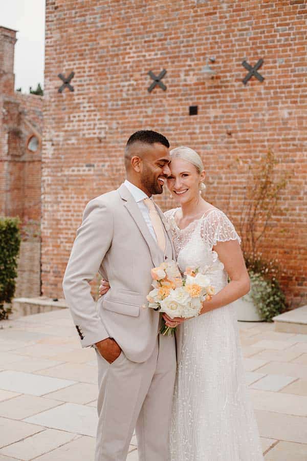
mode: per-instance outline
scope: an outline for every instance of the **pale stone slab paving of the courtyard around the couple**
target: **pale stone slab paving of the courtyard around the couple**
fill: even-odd
[[[265,459],[305,461],[307,334],[239,327]],[[95,352],[81,349],[68,310],[0,328],[0,461],[94,459]],[[135,436],[127,460],[138,460]]]

